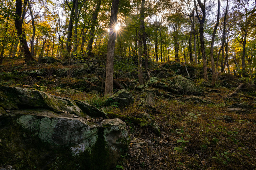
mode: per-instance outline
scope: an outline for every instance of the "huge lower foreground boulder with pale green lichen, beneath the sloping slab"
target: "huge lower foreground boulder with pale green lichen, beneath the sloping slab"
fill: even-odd
[[[110,169],[130,143],[118,118],[94,123],[51,110],[12,110],[0,124],[0,160],[13,168]]]

